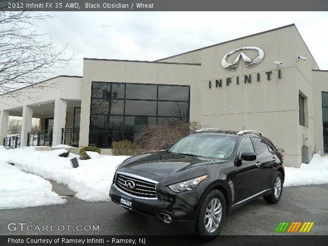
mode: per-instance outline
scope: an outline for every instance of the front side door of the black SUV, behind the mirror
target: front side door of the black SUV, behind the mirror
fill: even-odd
[[[238,161],[235,161],[235,169],[231,173],[231,181],[234,186],[234,203],[247,199],[254,195],[259,186],[258,176],[260,170],[256,166],[256,160],[240,160],[242,152],[254,152],[255,149],[250,137],[244,137],[238,148]]]

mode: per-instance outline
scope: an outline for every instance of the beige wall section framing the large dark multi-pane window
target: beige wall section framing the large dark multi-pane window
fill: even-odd
[[[79,145],[89,144],[92,81],[190,85],[190,118],[199,120],[199,74],[197,65],[85,59]]]

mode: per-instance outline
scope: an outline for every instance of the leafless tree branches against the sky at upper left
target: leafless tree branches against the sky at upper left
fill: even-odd
[[[47,12],[0,8],[0,94],[47,79],[74,59],[75,54],[66,55],[67,46],[38,32],[37,25],[52,17]]]

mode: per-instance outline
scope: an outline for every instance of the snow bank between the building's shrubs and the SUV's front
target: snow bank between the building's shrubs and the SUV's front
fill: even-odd
[[[36,151],[34,147],[6,150],[0,147],[0,161],[15,163],[28,173],[66,185],[76,192],[76,197],[86,201],[109,201],[109,189],[115,168],[129,156],[102,156],[79,160],[78,168],[72,168],[69,157],[59,157],[65,149]],[[1,170],[0,170],[1,172]]]

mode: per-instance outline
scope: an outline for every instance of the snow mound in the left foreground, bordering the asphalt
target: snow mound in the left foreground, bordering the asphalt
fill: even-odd
[[[0,209],[17,209],[51,204],[63,204],[66,199],[51,191],[42,177],[25,173],[0,161]]]

